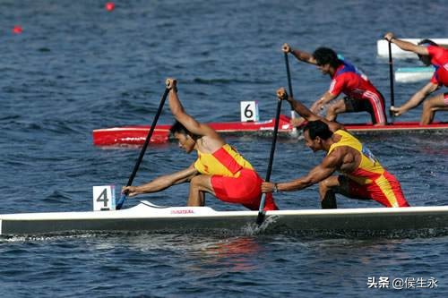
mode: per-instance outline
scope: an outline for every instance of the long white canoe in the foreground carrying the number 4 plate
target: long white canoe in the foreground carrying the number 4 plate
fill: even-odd
[[[142,201],[115,211],[49,212],[0,215],[0,234],[79,234],[89,231],[188,233],[255,226],[257,211],[215,211],[208,207],[162,208]],[[263,231],[395,231],[448,227],[448,206],[400,209],[302,209],[266,212]]]

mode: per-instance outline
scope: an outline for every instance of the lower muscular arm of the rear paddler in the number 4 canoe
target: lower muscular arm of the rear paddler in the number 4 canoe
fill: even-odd
[[[340,150],[333,151],[326,158],[323,158],[319,166],[315,166],[308,175],[286,183],[262,183],[262,192],[273,192],[277,187],[279,192],[300,191],[315,183],[320,183],[330,177],[334,171],[340,168],[343,162],[343,155]]]

